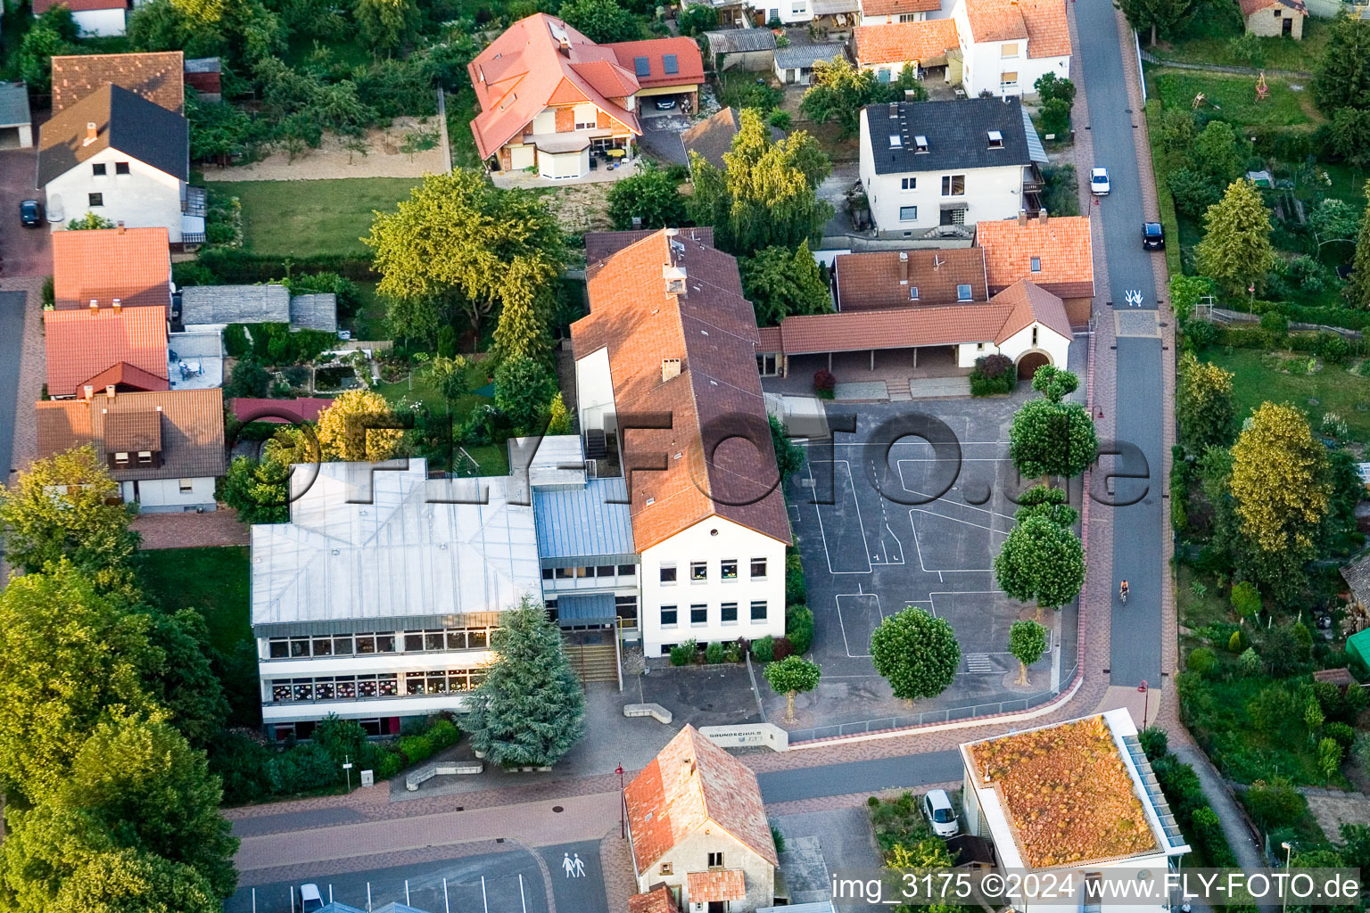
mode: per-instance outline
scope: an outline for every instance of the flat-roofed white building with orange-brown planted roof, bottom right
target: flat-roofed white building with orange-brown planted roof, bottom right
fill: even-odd
[[[960,754],[966,831],[993,840],[1004,869],[1071,880],[1069,902],[1018,899],[1017,910],[1077,913],[1088,890],[1101,897],[1092,905],[1100,913],[1137,910],[1136,899],[1110,901],[1086,883],[1138,877],[1160,888],[1151,909],[1170,909],[1164,879],[1189,846],[1128,710],[964,743]]]

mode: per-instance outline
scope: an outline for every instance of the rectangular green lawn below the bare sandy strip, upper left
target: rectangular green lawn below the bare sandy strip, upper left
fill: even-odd
[[[334,181],[236,181],[216,183],[242,201],[244,246],[282,257],[366,256],[362,237],[373,211],[389,211],[410,196],[416,178]]]

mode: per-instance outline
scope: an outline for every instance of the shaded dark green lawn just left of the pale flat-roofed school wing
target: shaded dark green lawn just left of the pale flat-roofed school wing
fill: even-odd
[[[196,609],[219,653],[252,639],[245,548],[148,549],[138,561],[148,598],[170,612]]]

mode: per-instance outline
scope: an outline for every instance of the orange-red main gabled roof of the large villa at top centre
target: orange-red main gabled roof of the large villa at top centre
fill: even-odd
[[[637,77],[619,66],[607,45],[544,12],[511,25],[466,70],[481,105],[471,133],[482,159],[521,136],[553,99],[555,104],[589,101],[626,130],[643,133],[637,115],[621,104],[637,90]]]

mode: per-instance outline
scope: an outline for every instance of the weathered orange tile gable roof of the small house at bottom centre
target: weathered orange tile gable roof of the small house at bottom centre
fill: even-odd
[[[778,865],[756,775],[693,725],[681,730],[623,795],[638,875],[704,827],[721,828]]]

